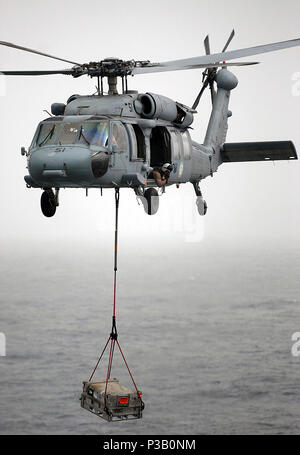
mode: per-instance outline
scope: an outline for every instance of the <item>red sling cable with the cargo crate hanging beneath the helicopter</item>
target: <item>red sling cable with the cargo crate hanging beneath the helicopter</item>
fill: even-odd
[[[115,188],[115,251],[114,251],[114,298],[113,298],[113,314],[112,328],[104,349],[96,363],[96,366],[88,381],[83,382],[83,392],[81,394],[81,406],[84,409],[96,414],[99,417],[111,422],[120,420],[140,419],[144,409],[142,393],[138,390],[134,381],[128,363],[118,340],[118,332],[116,325],[116,294],[117,294],[117,270],[118,270],[118,221],[119,221],[119,199],[120,190]],[[107,349],[109,348],[108,366],[106,379],[102,381],[94,381],[92,379],[99,366],[99,363]],[[124,360],[135,391],[122,386],[118,379],[111,378],[111,368],[115,346],[119,348],[121,356]]]

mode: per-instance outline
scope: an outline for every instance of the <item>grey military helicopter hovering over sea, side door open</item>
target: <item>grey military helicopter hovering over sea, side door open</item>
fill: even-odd
[[[199,183],[217,171],[224,162],[297,159],[291,141],[225,143],[230,92],[238,83],[228,66],[258,62],[228,63],[227,60],[262,54],[300,45],[300,39],[210,53],[208,36],[206,55],[182,60],[151,63],[106,58],[100,62],[77,63],[33,49],[0,41],[1,45],[43,55],[72,66],[49,71],[1,71],[12,76],[64,74],[97,78],[93,95],[72,95],[66,104],[54,103],[52,115],[41,121],[28,149],[27,187],[41,188],[41,209],[45,216],[55,214],[60,188],[132,188],[143,201],[146,213],[158,209],[157,181],[154,169],[167,164],[167,185],[191,182],[196,193],[199,214],[206,213]],[[192,107],[154,93],[128,90],[128,76],[205,68],[201,90]],[[107,78],[108,94],[103,91]],[[117,90],[118,78],[122,93]],[[214,84],[216,83],[217,90]],[[210,88],[212,112],[203,144],[192,141],[188,131],[206,87]],[[164,187],[163,187],[164,189]]]

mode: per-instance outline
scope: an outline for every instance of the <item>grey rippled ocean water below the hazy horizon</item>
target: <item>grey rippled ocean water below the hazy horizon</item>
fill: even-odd
[[[111,329],[111,245],[7,245],[0,434],[299,433],[299,278],[296,249],[123,245],[119,342],[145,411],[107,423],[79,397]],[[131,385],[117,352],[112,376]]]

